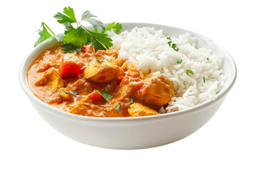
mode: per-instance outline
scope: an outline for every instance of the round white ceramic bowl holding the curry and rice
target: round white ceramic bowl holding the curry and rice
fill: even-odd
[[[198,40],[199,47],[208,47],[213,53],[224,57],[223,70],[228,75],[224,88],[217,95],[215,101],[206,101],[175,113],[150,115],[136,118],[92,118],[82,115],[67,113],[54,108],[39,100],[29,89],[26,72],[29,64],[43,50],[52,47],[54,40],[46,40],[38,45],[22,62],[19,70],[19,79],[23,91],[25,91],[36,111],[55,130],[78,142],[96,147],[114,149],[141,149],[166,145],[181,140],[205,125],[218,111],[228,91],[235,83],[237,70],[235,62],[230,54],[218,43],[209,38],[193,33],[189,30],[161,26],[151,23],[122,23],[123,30],[131,30],[137,27],[154,27],[163,29],[165,35],[178,36],[183,33],[191,33]]]

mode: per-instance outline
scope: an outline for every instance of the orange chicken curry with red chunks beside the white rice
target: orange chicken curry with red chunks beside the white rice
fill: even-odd
[[[174,95],[162,74],[144,75],[117,50],[64,53],[60,44],[44,50],[28,67],[28,84],[41,101],[77,115],[129,117],[157,115]]]

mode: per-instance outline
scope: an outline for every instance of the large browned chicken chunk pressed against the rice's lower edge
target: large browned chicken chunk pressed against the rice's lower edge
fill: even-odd
[[[137,93],[139,100],[159,107],[171,101],[174,95],[174,84],[171,80],[162,74],[149,74],[143,81],[145,83]]]

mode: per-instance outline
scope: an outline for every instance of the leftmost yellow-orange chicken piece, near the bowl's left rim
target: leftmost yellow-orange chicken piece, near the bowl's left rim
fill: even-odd
[[[50,86],[50,90],[55,91],[56,89],[64,86],[64,81],[55,69],[50,69],[48,72],[43,73],[38,81],[36,81],[35,85]]]

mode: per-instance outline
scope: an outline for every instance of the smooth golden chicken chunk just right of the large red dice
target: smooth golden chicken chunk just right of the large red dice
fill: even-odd
[[[110,82],[114,79],[122,77],[124,71],[117,65],[105,60],[92,60],[87,64],[83,72],[85,79],[97,83]]]

